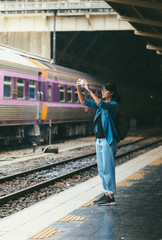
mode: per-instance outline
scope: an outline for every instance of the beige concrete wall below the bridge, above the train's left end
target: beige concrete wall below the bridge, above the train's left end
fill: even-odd
[[[1,32],[0,43],[50,57],[50,32]]]

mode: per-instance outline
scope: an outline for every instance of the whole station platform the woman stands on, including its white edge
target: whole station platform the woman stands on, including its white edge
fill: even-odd
[[[162,239],[162,146],[116,167],[116,206],[91,205],[99,176],[1,220],[1,240]]]

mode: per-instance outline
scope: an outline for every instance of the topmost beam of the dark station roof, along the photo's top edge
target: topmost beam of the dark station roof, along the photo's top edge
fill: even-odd
[[[126,4],[130,6],[138,6],[144,8],[152,8],[152,9],[162,9],[162,3],[156,2],[148,2],[148,1],[139,1],[139,0],[106,0],[108,4],[111,3],[119,3],[119,4]]]

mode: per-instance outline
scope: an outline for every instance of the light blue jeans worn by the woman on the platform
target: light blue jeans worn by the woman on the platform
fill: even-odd
[[[115,154],[117,152],[117,141],[110,145],[106,138],[96,139],[97,167],[105,193],[116,193],[115,182]]]

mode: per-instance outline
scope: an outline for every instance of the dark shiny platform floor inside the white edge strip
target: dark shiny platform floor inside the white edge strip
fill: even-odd
[[[161,163],[161,164],[160,164]],[[129,185],[130,184],[130,185]],[[116,206],[90,205],[71,212],[49,227],[51,240],[161,240],[162,158],[147,165],[118,187]],[[66,222],[67,221],[67,222]]]

